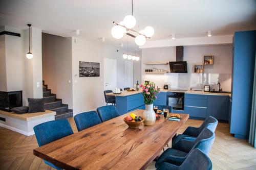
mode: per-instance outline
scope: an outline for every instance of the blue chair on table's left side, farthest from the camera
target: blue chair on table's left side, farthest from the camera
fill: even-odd
[[[115,106],[102,106],[102,107],[97,108],[97,112],[99,114],[101,122],[105,122],[109,119],[119,116],[119,114],[116,111]]]

